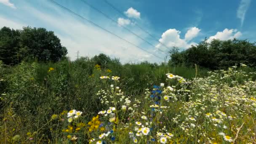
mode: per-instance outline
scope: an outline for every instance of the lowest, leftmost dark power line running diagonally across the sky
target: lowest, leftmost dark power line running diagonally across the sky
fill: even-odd
[[[106,32],[108,32],[108,33],[110,33],[110,34],[112,34],[112,35],[115,35],[116,37],[120,38],[121,40],[124,40],[125,42],[130,43],[131,45],[134,45],[135,47],[141,49],[142,51],[145,51],[145,52],[147,52],[147,53],[149,53],[149,54],[152,54],[153,56],[155,56],[155,57],[157,57],[157,58],[159,58],[159,59],[162,59],[160,56],[157,56],[157,55],[155,55],[155,54],[153,54],[153,53],[150,53],[149,51],[144,50],[143,48],[139,47],[138,45],[136,45],[136,44],[134,44],[134,43],[131,43],[131,42],[128,41],[128,40],[125,40],[124,38],[122,38],[122,37],[116,35],[116,34],[113,33],[113,32],[110,32],[110,31],[107,30],[107,29],[104,29],[103,27],[99,26],[98,24],[95,24],[93,21],[90,21],[90,20],[86,19],[85,17],[83,17],[83,16],[81,16],[81,15],[79,15],[79,14],[77,14],[77,13],[71,11],[70,9],[68,9],[68,8],[64,7],[63,5],[61,5],[61,4],[57,3],[57,2],[55,2],[54,0],[50,0],[50,1],[51,1],[52,3],[54,3],[55,5],[58,5],[60,8],[63,8],[64,10],[68,11],[69,13],[72,13],[72,14],[74,14],[74,15],[80,17],[81,19],[84,19],[84,20],[88,21],[89,23],[93,24],[94,26],[99,27],[100,29],[102,29],[102,30],[104,30],[104,31],[106,31]]]

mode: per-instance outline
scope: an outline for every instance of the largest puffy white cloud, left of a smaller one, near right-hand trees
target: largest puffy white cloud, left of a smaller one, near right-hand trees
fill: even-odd
[[[176,29],[168,29],[162,34],[162,38],[160,38],[159,44],[157,44],[157,48],[163,48],[162,43],[167,47],[171,48],[173,46],[179,48],[189,48],[189,46],[196,45],[196,43],[187,43],[185,39],[180,38],[180,31]]]

